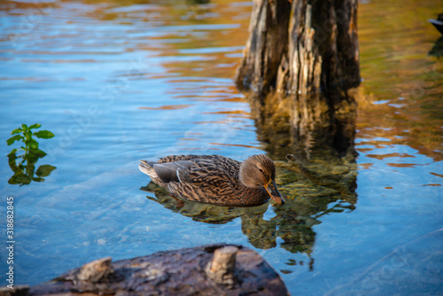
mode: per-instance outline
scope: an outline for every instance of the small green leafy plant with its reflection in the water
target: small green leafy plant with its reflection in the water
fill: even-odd
[[[8,183],[27,185],[31,181],[42,182],[43,176],[48,176],[57,167],[51,165],[43,165],[35,170],[35,164],[39,159],[46,156],[46,152],[40,150],[38,142],[35,137],[50,139],[54,136],[49,130],[33,131],[32,129],[39,129],[42,127],[40,123],[35,123],[31,126],[22,124],[21,128],[12,130],[11,138],[6,140],[6,144],[12,145],[17,141],[21,141],[22,145],[19,149],[14,148],[8,154],[8,163],[14,175],[9,179]],[[17,152],[24,151],[23,154],[17,155]],[[21,161],[17,161],[20,160]],[[36,176],[35,176],[36,175]]]

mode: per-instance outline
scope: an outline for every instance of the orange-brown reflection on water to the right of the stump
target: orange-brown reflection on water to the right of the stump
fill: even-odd
[[[439,4],[437,0],[359,4],[364,81],[357,96],[357,137],[376,139],[370,144],[378,147],[386,143],[377,138],[407,144],[434,161],[443,160],[443,63],[429,54],[440,35],[427,19],[437,16]],[[389,12],[392,7],[401,9]]]

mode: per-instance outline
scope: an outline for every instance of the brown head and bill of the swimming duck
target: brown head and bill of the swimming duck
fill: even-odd
[[[277,204],[284,204],[284,199],[276,188],[276,165],[268,156],[257,154],[243,161],[240,165],[240,182],[247,187],[263,186]]]

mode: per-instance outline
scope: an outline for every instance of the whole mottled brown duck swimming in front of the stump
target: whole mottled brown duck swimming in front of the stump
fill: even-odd
[[[140,160],[139,169],[153,183],[179,199],[218,206],[260,206],[273,199],[283,205],[276,187],[276,166],[265,154],[243,162],[221,155],[169,155]]]

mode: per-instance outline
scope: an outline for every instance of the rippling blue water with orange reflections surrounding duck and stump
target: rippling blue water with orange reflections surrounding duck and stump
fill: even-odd
[[[250,2],[2,2],[2,138],[21,123],[56,134],[40,141],[48,155],[37,166],[57,167],[44,182],[8,184],[6,157],[0,166],[3,214],[14,198],[16,284],[105,256],[228,242],[253,247],[294,295],[442,292],[443,63],[426,22],[438,4],[360,4],[360,156],[340,173],[356,190],[280,166],[288,205],[237,209],[177,208],[158,188],[140,190],[149,178],[137,162],[263,152],[232,82]]]

